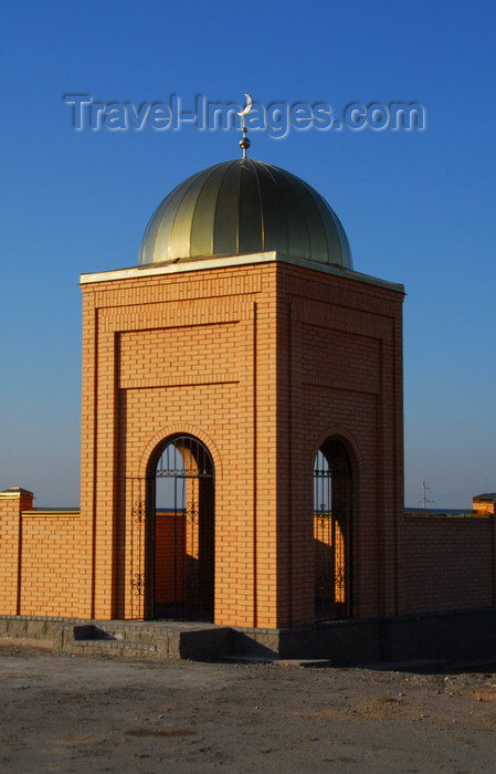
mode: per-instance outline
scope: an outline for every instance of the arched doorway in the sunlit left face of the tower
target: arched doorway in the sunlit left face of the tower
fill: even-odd
[[[159,448],[149,522],[150,614],[213,620],[214,469],[198,438],[176,436]]]

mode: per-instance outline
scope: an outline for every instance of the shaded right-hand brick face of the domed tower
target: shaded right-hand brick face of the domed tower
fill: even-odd
[[[403,506],[402,294],[286,264],[279,274],[279,538],[293,565],[292,573],[284,568],[281,602],[292,623],[303,621],[314,561],[308,481],[317,449],[336,436],[353,478],[352,613],[394,615]]]

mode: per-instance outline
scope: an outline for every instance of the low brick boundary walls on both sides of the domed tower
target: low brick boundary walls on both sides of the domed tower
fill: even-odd
[[[33,509],[24,490],[0,493],[0,615],[89,618],[80,521],[75,510]],[[398,616],[496,608],[494,515],[405,515],[400,524]],[[404,618],[401,628],[412,626]]]

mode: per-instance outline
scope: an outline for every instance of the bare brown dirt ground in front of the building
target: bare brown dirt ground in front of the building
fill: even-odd
[[[0,644],[0,771],[496,772],[496,667],[150,663]]]

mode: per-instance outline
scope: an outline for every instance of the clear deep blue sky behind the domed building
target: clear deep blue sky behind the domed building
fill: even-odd
[[[355,269],[401,282],[405,502],[496,490],[494,0],[4,1],[1,10],[0,489],[80,500],[80,273],[134,265],[181,180],[239,132],[75,130],[64,94],[330,105],[418,102],[425,129],[251,133],[306,179]]]

